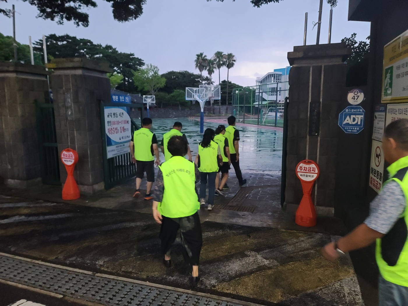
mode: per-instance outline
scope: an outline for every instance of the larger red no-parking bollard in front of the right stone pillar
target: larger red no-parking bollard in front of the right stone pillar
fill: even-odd
[[[316,225],[317,215],[310,195],[319,173],[319,166],[313,160],[302,160],[296,166],[296,175],[302,183],[303,189],[303,197],[296,211],[295,222],[297,225],[307,227]]]

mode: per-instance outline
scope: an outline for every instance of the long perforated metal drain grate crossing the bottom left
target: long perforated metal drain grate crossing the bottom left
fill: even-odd
[[[3,255],[0,255],[0,279],[109,306],[242,306]]]

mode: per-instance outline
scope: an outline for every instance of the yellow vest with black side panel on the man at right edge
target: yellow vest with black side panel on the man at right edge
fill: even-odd
[[[384,186],[395,181],[401,186],[408,206],[408,156],[402,157],[388,168],[390,179]],[[408,208],[393,228],[381,239],[377,239],[376,259],[384,279],[399,286],[408,287],[408,237],[401,233],[408,231]],[[404,241],[405,238],[405,241]]]

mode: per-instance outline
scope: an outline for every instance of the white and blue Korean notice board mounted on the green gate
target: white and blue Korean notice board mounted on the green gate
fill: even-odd
[[[105,106],[104,113],[107,158],[129,153],[132,128],[126,108]]]

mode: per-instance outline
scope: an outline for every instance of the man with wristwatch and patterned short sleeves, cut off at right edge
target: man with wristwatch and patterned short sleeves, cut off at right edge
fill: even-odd
[[[383,155],[390,164],[389,179],[370,204],[370,214],[337,242],[327,244],[322,253],[335,260],[344,253],[377,242],[379,306],[408,305],[408,119],[386,126]]]

